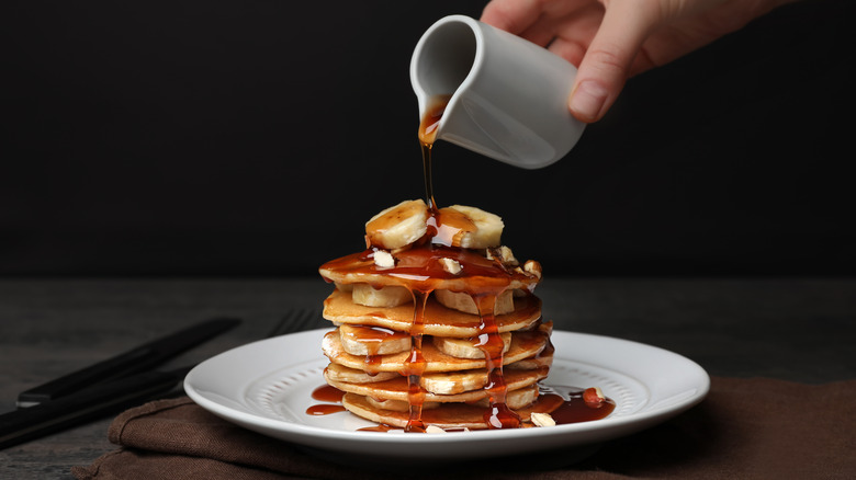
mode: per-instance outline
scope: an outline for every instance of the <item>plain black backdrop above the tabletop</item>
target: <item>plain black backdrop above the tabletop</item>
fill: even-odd
[[[559,163],[436,147],[547,274],[856,273],[854,2],[632,79]],[[0,275],[292,275],[424,194],[409,59],[483,1],[0,4]]]

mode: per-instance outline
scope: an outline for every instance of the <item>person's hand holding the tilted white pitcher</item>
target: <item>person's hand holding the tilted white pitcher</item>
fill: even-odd
[[[600,119],[627,79],[665,65],[796,0],[492,0],[482,21],[577,66],[568,99]]]

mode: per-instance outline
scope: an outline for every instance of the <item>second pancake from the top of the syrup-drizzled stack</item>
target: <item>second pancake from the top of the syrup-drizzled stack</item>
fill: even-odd
[[[338,288],[324,300],[324,318],[337,323],[383,327],[409,332],[414,319],[414,304],[397,307],[367,307],[351,300],[348,292]],[[541,318],[541,300],[534,295],[515,298],[515,311],[496,316],[499,332],[525,329]],[[425,306],[424,333],[435,336],[469,339],[481,333],[477,315],[446,308],[429,297]]]

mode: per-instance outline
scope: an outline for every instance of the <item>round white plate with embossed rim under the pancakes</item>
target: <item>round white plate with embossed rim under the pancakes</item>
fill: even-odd
[[[210,358],[188,374],[184,390],[202,408],[274,438],[327,452],[443,460],[582,447],[624,436],[700,402],[710,378],[675,353],[626,340],[553,332],[555,357],[545,385],[597,386],[616,401],[602,420],[547,428],[447,434],[358,432],[375,425],[349,412],[308,415],[320,402],[327,358],[313,330],[250,343]]]

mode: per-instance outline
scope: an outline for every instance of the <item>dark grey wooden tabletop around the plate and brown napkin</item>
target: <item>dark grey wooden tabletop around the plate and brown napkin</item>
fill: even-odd
[[[179,328],[244,319],[171,364],[205,359],[263,338],[290,309],[319,309],[329,292],[319,277],[0,279],[0,412],[21,390]],[[538,295],[556,329],[664,347],[712,376],[856,378],[855,279],[547,278]],[[72,478],[71,466],[115,448],[110,421],[0,450],[0,478]]]

